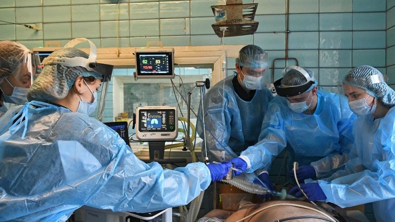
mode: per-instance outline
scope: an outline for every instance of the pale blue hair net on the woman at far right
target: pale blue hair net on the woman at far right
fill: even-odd
[[[395,105],[395,91],[384,81],[383,74],[371,66],[358,66],[343,79],[343,83],[362,88],[379,99],[384,106]]]

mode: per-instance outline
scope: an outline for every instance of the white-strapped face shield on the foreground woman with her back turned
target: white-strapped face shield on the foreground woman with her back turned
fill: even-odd
[[[72,48],[75,45],[81,43],[81,42],[89,42],[90,46],[90,51],[89,51],[89,57],[88,58],[83,58],[83,57],[73,57],[73,58],[67,58],[67,57],[47,57],[43,61],[43,65],[62,65],[62,66],[68,66],[68,67],[84,67],[88,71],[93,71],[95,73],[101,74],[101,81],[102,81],[102,87],[101,87],[101,93],[98,95],[98,100],[99,100],[99,106],[97,111],[94,112],[94,114],[97,116],[99,120],[102,119],[103,117],[103,112],[104,112],[104,106],[105,106],[105,101],[107,97],[107,90],[108,90],[108,85],[111,80],[111,75],[113,73],[113,65],[108,65],[108,64],[102,64],[102,63],[97,63],[96,62],[96,57],[97,57],[97,50],[95,44],[93,44],[92,41],[90,41],[87,38],[75,38],[71,41],[69,41],[64,47],[65,48]]]

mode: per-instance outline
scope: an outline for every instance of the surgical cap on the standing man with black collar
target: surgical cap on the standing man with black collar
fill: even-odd
[[[256,45],[246,45],[238,52],[236,63],[245,68],[267,68],[268,53]]]

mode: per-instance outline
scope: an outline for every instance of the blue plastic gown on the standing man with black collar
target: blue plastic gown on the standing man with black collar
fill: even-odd
[[[218,82],[204,97],[206,134],[202,150],[206,144],[210,160],[229,160],[256,144],[263,116],[273,99],[273,93],[267,88],[256,90],[249,102],[240,99],[233,87],[233,78],[229,76]],[[197,133],[202,137],[203,129],[199,125]],[[225,151],[224,159],[222,151]]]

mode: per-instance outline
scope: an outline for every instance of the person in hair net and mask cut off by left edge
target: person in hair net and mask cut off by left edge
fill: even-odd
[[[0,117],[8,110],[4,103],[21,105],[33,82],[35,69],[29,49],[14,41],[0,41]]]

